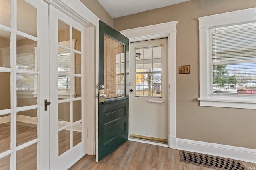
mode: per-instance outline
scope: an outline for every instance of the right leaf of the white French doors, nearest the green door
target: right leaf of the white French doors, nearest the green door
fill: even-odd
[[[51,5],[49,9],[50,169],[64,170],[87,153],[82,74],[86,29]]]

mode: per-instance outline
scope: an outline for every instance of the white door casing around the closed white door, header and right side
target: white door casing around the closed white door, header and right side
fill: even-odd
[[[130,43],[148,39],[168,37],[168,145],[176,149],[176,25],[178,21],[160,23],[120,31],[129,38]],[[145,142],[145,141],[143,141]],[[158,145],[157,143],[151,143]]]

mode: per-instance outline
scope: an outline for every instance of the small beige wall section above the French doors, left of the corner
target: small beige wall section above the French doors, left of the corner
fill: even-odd
[[[101,21],[113,27],[113,18],[106,12],[97,0],[80,0],[90,11],[92,11]]]

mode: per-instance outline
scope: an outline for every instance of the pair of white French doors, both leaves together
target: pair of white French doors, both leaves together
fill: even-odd
[[[0,11],[0,169],[67,169],[87,153],[86,28],[43,0]]]

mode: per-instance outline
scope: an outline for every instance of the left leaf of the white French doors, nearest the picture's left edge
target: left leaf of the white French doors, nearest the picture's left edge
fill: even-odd
[[[47,83],[40,66],[48,69],[47,59],[41,57],[48,58],[48,36],[40,35],[48,33],[44,25],[48,21],[43,17],[48,17],[48,5],[44,1],[0,0],[0,11],[0,169],[37,169],[44,153],[39,150],[43,134],[38,122],[45,96],[40,95],[39,87]],[[48,87],[42,90],[48,96]]]

